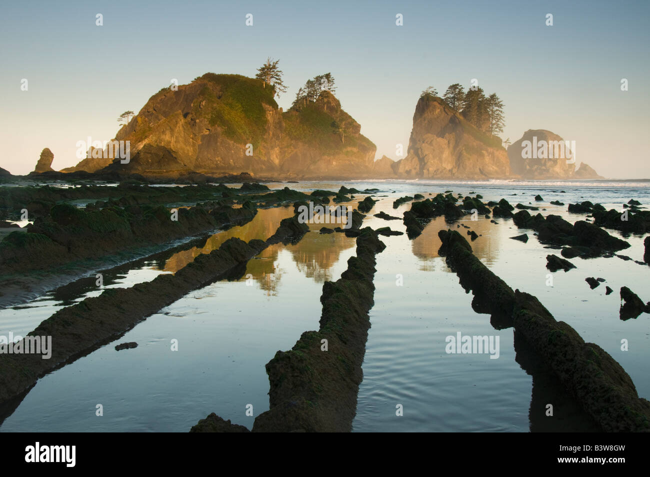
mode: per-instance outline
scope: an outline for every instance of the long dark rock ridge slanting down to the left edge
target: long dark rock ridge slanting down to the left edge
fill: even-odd
[[[18,396],[61,363],[109,342],[191,290],[222,278],[239,279],[246,271],[242,265],[253,256],[274,243],[296,241],[296,237],[304,235],[305,228],[309,230],[307,225],[298,223],[297,217],[290,217],[281,221],[276,233],[266,242],[253,239],[246,243],[229,238],[221,247],[200,254],[174,275],[158,275],[150,282],[130,288],[109,288],[98,297],[88,297],[60,309],[27,334],[52,337],[51,359],[36,354],[0,353],[0,403]]]

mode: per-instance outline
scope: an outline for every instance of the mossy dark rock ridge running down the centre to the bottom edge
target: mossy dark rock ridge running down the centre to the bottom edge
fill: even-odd
[[[323,285],[320,329],[305,331],[266,364],[270,409],[255,418],[253,432],[350,431],[374,304],[375,254],[383,249],[364,228],[341,279]]]

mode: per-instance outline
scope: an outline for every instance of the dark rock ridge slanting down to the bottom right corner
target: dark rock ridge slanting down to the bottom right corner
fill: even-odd
[[[556,321],[536,297],[512,292],[474,256],[458,232],[441,230],[439,236],[439,254],[446,256],[461,286],[474,293],[474,311],[492,314],[495,327],[510,321],[595,423],[608,432],[650,431],[650,402],[639,398],[616,360],[596,344],[585,343],[567,323]],[[478,297],[482,299],[475,305]],[[500,315],[496,324],[495,315]]]

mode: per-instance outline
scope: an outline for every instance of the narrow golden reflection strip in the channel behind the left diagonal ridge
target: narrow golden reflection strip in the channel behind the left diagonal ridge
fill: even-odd
[[[218,249],[222,243],[232,237],[240,238],[246,242],[252,239],[266,240],[276,232],[282,219],[286,219],[292,215],[292,207],[258,209],[252,221],[242,226],[235,226],[214,234],[205,241],[205,245],[202,247],[193,247],[192,249],[175,253],[168,258],[164,269],[176,273],[190,262],[193,262],[194,258],[200,254],[210,253]]]

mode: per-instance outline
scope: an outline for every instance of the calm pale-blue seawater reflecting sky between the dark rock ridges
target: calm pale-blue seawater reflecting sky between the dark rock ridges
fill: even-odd
[[[340,182],[269,184],[271,188],[339,189]],[[402,217],[410,204],[394,210],[403,195],[452,190],[480,193],[483,200],[507,198],[539,206],[573,222],[565,204],[582,200],[621,210],[630,198],[650,203],[647,182],[348,182],[346,187],[376,188],[378,202],[364,221],[372,227],[404,231],[401,220],[384,221],[372,214],[385,211]],[[564,192],[563,192],[564,191]],[[540,194],[543,202],[536,203]],[[357,195],[361,200],[365,195]],[[356,201],[355,201],[356,203]],[[545,210],[541,210],[541,209]],[[252,223],[214,234],[203,246],[187,247],[153,261],[125,267],[109,286],[131,286],[159,273],[174,273],[198,253],[217,248],[229,236],[270,236],[292,208],[260,211]],[[647,314],[621,321],[619,288],[629,286],[650,300],[650,267],[620,258],[571,260],[577,269],[550,273],[546,249],[532,230],[512,221],[482,216],[463,217],[448,225],[435,219],[414,240],[406,235],[382,237],[387,248],[377,256],[374,307],[370,310],[363,382],[359,387],[354,431],[536,431],[591,430],[577,403],[565,396],[528,356],[525,343],[512,328],[495,329],[486,314],[471,308],[473,295],[458,283],[437,250],[441,228],[464,224],[480,237],[474,253],[512,288],[536,295],[557,320],[573,326],[588,342],[608,351],[632,377],[640,396],[650,398],[647,362],[650,329]],[[274,245],[248,263],[240,280],[219,281],[188,293],[161,312],[138,323],[115,342],[102,346],[46,375],[16,409],[6,413],[0,431],[179,431],[185,432],[214,412],[252,427],[253,418],[268,409],[265,364],[278,350],[290,349],[304,331],[318,329],[322,284],[336,280],[355,253],[355,241],[343,234],[318,234],[322,225],[296,245]],[[457,228],[465,233],[465,228]],[[510,239],[526,232],[528,243]],[[609,230],[614,236],[619,232]],[[621,254],[642,260],[642,236],[629,236],[631,247]],[[549,285],[549,275],[552,284]],[[586,277],[606,282],[591,290]],[[614,293],[606,296],[605,286]],[[3,331],[25,333],[54,310],[96,290],[82,284],[55,290],[32,303],[0,311]],[[499,357],[448,354],[447,336],[499,337]],[[5,333],[6,334],[6,333]],[[170,342],[178,340],[178,351]],[[621,351],[621,340],[629,350]],[[115,351],[120,342],[138,348]],[[545,416],[553,403],[555,417]],[[96,416],[96,405],[103,416]],[[246,405],[254,416],[246,416]],[[401,409],[401,414],[396,411]]]

